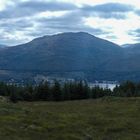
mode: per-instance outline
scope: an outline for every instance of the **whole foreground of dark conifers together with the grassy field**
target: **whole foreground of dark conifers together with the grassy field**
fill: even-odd
[[[0,95],[0,139],[140,139],[138,83],[127,81],[113,91],[89,88],[85,82],[0,83]]]

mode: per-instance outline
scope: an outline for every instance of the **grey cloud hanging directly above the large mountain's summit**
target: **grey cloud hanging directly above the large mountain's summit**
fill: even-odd
[[[42,29],[52,29],[61,32],[68,31],[85,31],[92,33],[94,35],[108,34],[101,29],[91,28],[89,26],[84,25],[83,17],[78,13],[70,12],[61,17],[55,18],[40,18],[37,20],[40,23],[40,27]]]

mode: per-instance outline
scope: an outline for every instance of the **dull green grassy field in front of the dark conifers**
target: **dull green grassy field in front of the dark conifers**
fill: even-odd
[[[0,102],[0,140],[140,140],[140,98]]]

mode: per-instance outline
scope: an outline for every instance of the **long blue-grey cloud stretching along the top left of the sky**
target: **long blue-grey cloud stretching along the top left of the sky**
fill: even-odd
[[[76,8],[75,5],[64,2],[19,2],[11,7],[7,7],[4,11],[0,11],[0,19],[32,16],[44,11],[68,11]]]

